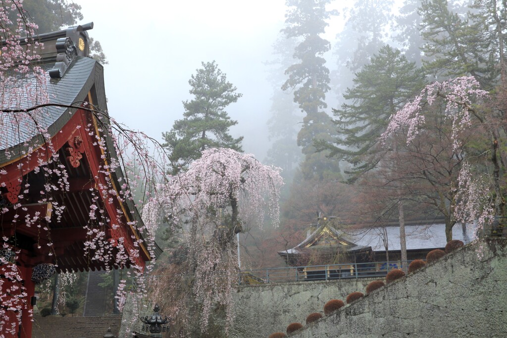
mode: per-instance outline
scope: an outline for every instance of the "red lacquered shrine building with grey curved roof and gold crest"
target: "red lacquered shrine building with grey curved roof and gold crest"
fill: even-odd
[[[0,336],[31,336],[34,285],[53,273],[143,267],[151,259],[135,205],[118,198],[125,175],[108,169],[118,158],[103,132],[107,116],[87,110],[107,110],[103,67],[88,56],[92,27],[35,37],[45,47],[50,103],[59,106],[44,107],[32,125],[0,126],[11,135],[0,149]]]

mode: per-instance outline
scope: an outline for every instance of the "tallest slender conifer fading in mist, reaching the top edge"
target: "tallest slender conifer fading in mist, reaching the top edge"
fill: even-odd
[[[297,102],[305,113],[303,126],[298,133],[298,145],[302,147],[305,161],[309,161],[303,164],[306,178],[324,176],[320,171],[322,163],[315,161],[327,161],[324,167],[335,173],[340,171],[338,161],[327,159],[322,154],[314,155],[316,149],[313,145],[314,140],[322,135],[329,137],[329,132],[336,134],[336,131],[330,128],[331,117],[320,110],[327,107],[325,94],[331,89],[329,69],[323,58],[323,54],[330,50],[331,44],[320,37],[328,26],[326,20],[336,15],[336,12],[325,9],[325,5],[330,2],[331,0],[287,0],[286,5],[291,9],[285,15],[286,26],[282,29],[287,39],[301,39],[293,55],[298,63],[285,70],[288,79],[282,89],[294,90],[294,102]]]

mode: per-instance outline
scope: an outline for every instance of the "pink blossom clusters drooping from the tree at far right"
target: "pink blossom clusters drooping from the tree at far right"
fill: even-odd
[[[396,132],[404,131],[407,135],[407,144],[410,144],[420,131],[424,130],[424,106],[432,105],[438,98],[446,102],[446,118],[452,121],[451,140],[453,150],[459,147],[459,134],[462,130],[473,127],[473,119],[481,125],[487,123],[486,118],[480,114],[475,104],[481,100],[489,99],[488,92],[480,89],[474,77],[461,77],[445,82],[433,82],[426,86],[415,99],[407,103],[401,110],[391,116],[386,131],[381,135],[384,144]],[[490,130],[492,142],[491,161],[498,168],[497,135]],[[501,199],[498,184],[499,170],[493,170],[494,182],[487,179],[488,174],[474,174],[469,159],[463,161],[458,177],[459,203],[456,205],[456,216],[463,222],[477,222],[478,228],[492,221],[495,213],[490,187],[493,186],[497,198]],[[500,204],[500,202],[498,203]],[[498,207],[498,209],[501,209]]]

